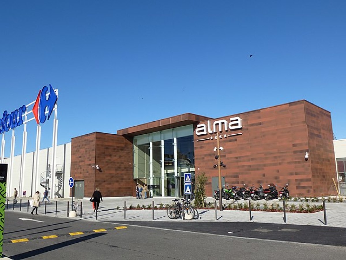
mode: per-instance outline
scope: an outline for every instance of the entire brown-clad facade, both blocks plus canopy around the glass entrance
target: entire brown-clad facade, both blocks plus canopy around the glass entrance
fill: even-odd
[[[330,112],[306,100],[216,119],[186,113],[121,129],[117,135],[94,132],[75,137],[71,144],[71,176],[75,181],[84,181],[84,197],[90,197],[97,187],[104,197],[135,197],[133,137],[192,124],[195,174],[206,173],[206,193],[211,197],[211,179],[218,177],[218,168],[213,168],[217,163],[217,152],[213,151],[217,133],[198,136],[195,129],[198,124],[207,125],[208,120],[229,122],[233,117],[242,119],[243,128],[220,132],[220,146],[224,148],[220,158],[227,166],[221,167],[221,176],[229,187],[274,183],[279,188],[289,183],[294,197],[336,194]],[[225,134],[234,136],[225,138]],[[99,165],[100,170],[92,165]]]

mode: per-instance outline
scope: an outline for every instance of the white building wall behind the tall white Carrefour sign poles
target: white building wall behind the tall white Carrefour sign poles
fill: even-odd
[[[25,197],[31,197],[36,191],[33,190],[35,185],[34,183],[34,155],[35,152],[27,153],[25,156],[25,169],[24,169],[24,186],[22,191],[26,191]],[[20,175],[20,163],[21,155],[17,155],[13,158],[13,177],[11,187],[7,187],[7,195],[13,196],[13,190],[19,188],[19,175]],[[10,158],[4,159],[5,164],[10,164]],[[42,194],[44,192],[44,187],[40,185],[40,182],[45,179],[48,171],[52,170],[52,148],[41,149],[39,154],[39,163],[38,163],[38,176],[37,176],[37,190]],[[59,191],[60,195],[64,198],[69,197],[70,187],[68,185],[71,172],[71,142],[63,145],[58,145],[56,149],[56,170],[57,177],[61,176],[61,190]],[[61,174],[60,174],[61,172]],[[7,176],[10,177],[9,175]],[[50,183],[51,180],[49,180]],[[8,180],[7,180],[8,183]],[[59,184],[58,179],[55,180],[55,191],[58,190],[57,185]],[[49,184],[49,187],[50,184]],[[23,197],[23,192],[18,194],[19,197]],[[57,196],[55,196],[57,197]]]

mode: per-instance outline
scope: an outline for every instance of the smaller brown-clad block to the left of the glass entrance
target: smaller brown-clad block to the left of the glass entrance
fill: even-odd
[[[94,132],[72,138],[71,176],[84,181],[84,197],[91,197],[95,188],[103,197],[132,196],[132,150],[131,141],[114,134]]]

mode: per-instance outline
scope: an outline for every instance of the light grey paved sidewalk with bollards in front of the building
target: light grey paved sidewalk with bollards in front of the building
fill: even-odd
[[[184,221],[183,219],[170,219],[167,217],[166,210],[160,209],[141,209],[141,210],[129,210],[129,206],[132,205],[136,207],[137,205],[153,205],[160,207],[160,204],[165,206],[166,204],[172,204],[174,197],[156,197],[148,199],[136,199],[133,197],[116,197],[116,198],[104,198],[103,202],[100,204],[100,208],[97,215],[97,220],[95,220],[95,212],[93,212],[91,202],[89,199],[85,198],[80,200],[83,202],[83,214],[82,219],[88,221],[112,221],[120,222],[124,220],[131,221]],[[180,199],[180,198],[177,198]],[[18,200],[19,201],[19,200]],[[55,201],[57,203],[57,217],[67,218],[67,201],[69,201],[71,209],[71,198],[66,199],[55,199],[47,203],[47,214],[46,216],[55,217]],[[124,204],[126,202],[126,219],[124,218]],[[208,198],[207,202],[214,203],[213,198]],[[224,203],[231,203],[233,200],[223,201]],[[244,203],[243,200],[237,201],[239,203]],[[265,201],[260,200],[256,201],[263,204]],[[283,202],[279,200],[267,201],[268,205],[271,203],[279,203],[282,207]],[[22,212],[27,212],[27,200],[22,201]],[[246,201],[248,203],[248,201]],[[297,206],[303,202],[286,202],[289,204],[295,203]],[[305,204],[305,203],[303,203]],[[309,202],[310,205],[317,204],[320,205],[322,202]],[[12,210],[11,200],[9,201],[8,211]],[[117,209],[118,208],[118,209]],[[19,203],[15,205],[15,210],[19,211]],[[45,204],[42,203],[42,206],[39,207],[38,213],[40,215],[44,214]],[[29,207],[30,214],[31,208]],[[265,211],[254,211],[252,210],[252,220],[250,220],[250,215],[248,210],[216,210],[215,209],[199,209],[200,218],[197,220],[192,220],[194,222],[199,221],[212,221],[212,222],[257,222],[257,223],[277,223],[284,224],[284,214],[278,212],[265,212]],[[153,218],[154,212],[154,218]],[[30,214],[30,217],[32,215]],[[326,216],[327,216],[327,225],[324,223],[324,211],[319,211],[317,213],[286,213],[286,224],[293,225],[314,225],[314,226],[333,226],[333,227],[346,227],[346,203],[328,203],[326,202]],[[35,219],[39,216],[35,216]],[[74,217],[78,219],[80,216]],[[154,219],[154,220],[153,220]],[[186,220],[185,220],[186,221]]]

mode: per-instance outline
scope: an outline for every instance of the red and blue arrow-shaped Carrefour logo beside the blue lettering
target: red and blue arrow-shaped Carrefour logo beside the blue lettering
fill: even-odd
[[[51,84],[49,84],[49,95],[47,96],[48,87],[44,86],[42,90],[38,92],[34,107],[33,114],[35,116],[37,124],[46,122],[46,119],[49,120],[53,112],[54,106],[58,100],[57,95],[54,92],[54,89]],[[46,108],[48,113],[46,115]]]

